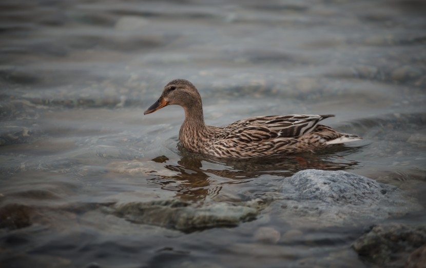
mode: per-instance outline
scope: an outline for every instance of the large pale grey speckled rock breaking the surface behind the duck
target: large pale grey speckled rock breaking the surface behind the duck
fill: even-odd
[[[295,226],[355,226],[421,208],[394,186],[345,171],[299,171],[282,188],[281,217]]]

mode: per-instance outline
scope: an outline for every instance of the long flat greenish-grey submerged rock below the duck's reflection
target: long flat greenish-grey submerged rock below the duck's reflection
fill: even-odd
[[[179,200],[130,202],[117,205],[114,214],[129,221],[163,226],[185,232],[236,226],[240,222],[256,218],[257,210],[227,202],[208,204],[194,208]]]

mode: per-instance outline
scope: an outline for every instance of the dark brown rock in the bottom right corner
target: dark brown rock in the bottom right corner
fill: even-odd
[[[402,267],[405,260],[410,261],[407,261],[406,266],[415,264],[416,256],[421,250],[413,251],[424,244],[426,225],[388,223],[374,226],[369,233],[355,241],[353,248],[360,256],[374,264],[382,267]],[[411,252],[413,254],[409,258]]]

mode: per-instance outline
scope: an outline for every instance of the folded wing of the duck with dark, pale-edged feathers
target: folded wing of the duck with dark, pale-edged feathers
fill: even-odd
[[[315,129],[318,122],[334,115],[273,115],[236,121],[224,127],[227,140],[265,142],[276,138],[295,138]]]

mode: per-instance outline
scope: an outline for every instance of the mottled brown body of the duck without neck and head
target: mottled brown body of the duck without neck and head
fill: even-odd
[[[251,158],[314,151],[360,137],[340,133],[318,122],[334,115],[257,116],[212,127],[204,153],[218,157]]]

